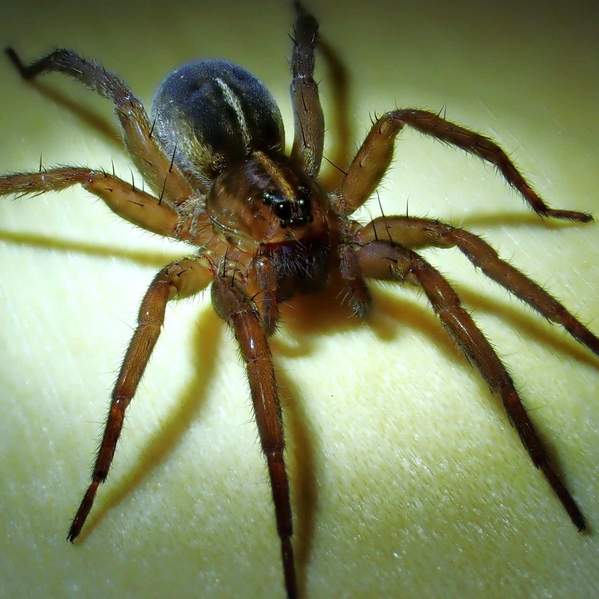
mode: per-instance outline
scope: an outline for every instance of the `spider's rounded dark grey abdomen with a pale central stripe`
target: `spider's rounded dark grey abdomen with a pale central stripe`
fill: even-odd
[[[198,60],[161,84],[152,102],[154,134],[183,173],[204,185],[255,150],[285,145],[279,107],[240,66]]]

